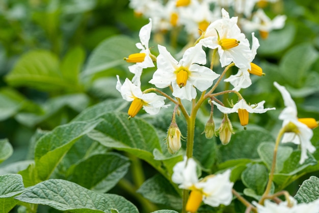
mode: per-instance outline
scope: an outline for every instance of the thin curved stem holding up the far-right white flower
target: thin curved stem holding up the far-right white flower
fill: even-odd
[[[269,197],[268,195],[269,195],[271,187],[272,187],[272,182],[273,182],[274,173],[275,173],[275,169],[276,169],[277,151],[278,151],[280,139],[281,139],[282,135],[285,132],[286,132],[286,128],[281,128],[279,133],[278,133],[278,136],[277,136],[277,139],[276,139],[275,148],[274,148],[274,156],[273,156],[272,168],[271,168],[271,171],[270,171],[270,174],[269,174],[269,180],[268,180],[265,192],[263,193],[263,195],[262,195],[262,197],[261,197],[261,199],[259,201],[259,204],[263,204],[263,201]]]

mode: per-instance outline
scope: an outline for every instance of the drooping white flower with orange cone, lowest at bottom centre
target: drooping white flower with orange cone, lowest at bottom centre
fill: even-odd
[[[186,205],[188,212],[196,212],[202,201],[210,206],[230,204],[233,186],[229,180],[230,170],[198,180],[196,162],[193,158],[184,157],[183,161],[176,163],[173,172],[172,181],[180,188],[192,191]]]

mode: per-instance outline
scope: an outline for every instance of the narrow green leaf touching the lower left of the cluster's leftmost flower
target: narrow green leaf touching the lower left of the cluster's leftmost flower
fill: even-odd
[[[77,115],[73,121],[88,121],[105,114],[105,112],[121,111],[128,105],[127,101],[121,99],[109,99],[91,106]]]

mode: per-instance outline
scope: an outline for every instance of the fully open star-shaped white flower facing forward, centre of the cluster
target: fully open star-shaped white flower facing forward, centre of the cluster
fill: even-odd
[[[209,88],[218,74],[199,64],[206,64],[206,54],[201,45],[185,51],[177,62],[164,46],[158,45],[157,70],[149,83],[158,88],[173,87],[173,96],[191,101],[196,98],[196,88],[204,91]],[[195,88],[195,87],[196,88]]]

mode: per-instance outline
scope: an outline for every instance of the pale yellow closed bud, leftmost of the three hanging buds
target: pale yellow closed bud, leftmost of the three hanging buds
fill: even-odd
[[[175,154],[181,147],[181,133],[176,123],[172,122],[167,131],[167,148],[169,153]]]

